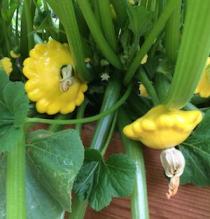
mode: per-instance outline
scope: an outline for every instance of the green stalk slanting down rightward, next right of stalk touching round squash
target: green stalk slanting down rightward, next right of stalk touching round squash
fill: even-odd
[[[97,20],[94,16],[94,13],[91,9],[90,3],[87,0],[78,0],[77,1],[80,10],[82,11],[82,14],[87,22],[87,25],[90,29],[90,32],[103,53],[103,55],[106,57],[106,59],[116,68],[121,69],[122,65],[120,62],[119,57],[115,54],[113,49],[110,47],[110,45],[107,43],[106,39],[104,38],[104,35],[101,31],[100,26],[97,23]]]

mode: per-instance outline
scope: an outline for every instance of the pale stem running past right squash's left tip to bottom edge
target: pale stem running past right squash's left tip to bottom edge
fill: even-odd
[[[124,110],[120,110],[118,126],[126,153],[136,164],[135,187],[131,196],[132,219],[149,219],[147,184],[144,166],[143,150],[139,143],[125,137],[122,130],[131,121]]]

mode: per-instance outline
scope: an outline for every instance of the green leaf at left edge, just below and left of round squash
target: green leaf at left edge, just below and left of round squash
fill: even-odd
[[[21,138],[29,104],[21,82],[9,81],[0,70],[0,151],[7,151]]]

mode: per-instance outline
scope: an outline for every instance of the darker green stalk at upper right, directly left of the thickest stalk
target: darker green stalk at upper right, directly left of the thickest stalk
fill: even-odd
[[[179,0],[177,8],[172,13],[166,24],[165,47],[166,55],[172,62],[176,62],[177,53],[180,44],[180,28],[181,28],[181,5]]]

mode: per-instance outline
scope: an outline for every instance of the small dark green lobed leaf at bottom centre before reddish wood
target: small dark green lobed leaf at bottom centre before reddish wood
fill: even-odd
[[[112,155],[105,162],[99,152],[91,149],[86,152],[74,191],[80,198],[88,198],[90,206],[100,211],[112,198],[130,195],[134,178],[135,164],[127,155]]]

